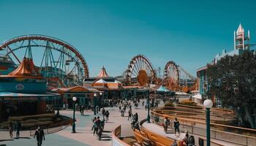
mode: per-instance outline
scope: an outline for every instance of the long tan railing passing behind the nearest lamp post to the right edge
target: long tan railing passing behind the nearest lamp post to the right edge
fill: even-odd
[[[151,118],[154,123],[162,125],[164,118],[169,118],[174,120],[175,116],[171,115],[162,115],[157,112],[151,110]],[[191,134],[196,134],[198,136],[206,137],[206,122],[199,121],[199,120],[191,120],[187,118],[178,118],[180,122],[180,129],[184,131],[189,131]],[[171,127],[173,127],[171,125]],[[226,126],[217,123],[211,123],[211,138],[221,140],[224,142],[230,142],[236,145],[256,145],[256,137],[250,137],[242,134],[234,134],[227,131],[220,131],[217,130],[219,128],[233,128],[239,130],[246,130],[255,132],[256,129],[249,129],[249,128],[240,128],[234,126]],[[216,128],[216,129],[214,129]]]

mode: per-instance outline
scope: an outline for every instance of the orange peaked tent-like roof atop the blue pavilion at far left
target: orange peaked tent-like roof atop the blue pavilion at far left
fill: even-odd
[[[17,69],[10,72],[10,74],[2,75],[1,77],[24,77],[24,78],[37,78],[42,79],[42,76],[34,66],[34,62],[31,58],[23,58]]]

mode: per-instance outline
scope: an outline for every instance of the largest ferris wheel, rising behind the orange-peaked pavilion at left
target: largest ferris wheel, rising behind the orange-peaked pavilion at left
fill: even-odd
[[[82,85],[83,78],[89,77],[83,55],[61,39],[43,35],[20,36],[1,44],[0,51],[17,66],[29,54],[39,74],[53,86]]]

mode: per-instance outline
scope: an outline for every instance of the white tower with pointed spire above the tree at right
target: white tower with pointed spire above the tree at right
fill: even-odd
[[[237,31],[234,31],[234,49],[235,50],[246,50],[249,49],[249,31],[245,34],[244,28],[241,23],[238,26]]]

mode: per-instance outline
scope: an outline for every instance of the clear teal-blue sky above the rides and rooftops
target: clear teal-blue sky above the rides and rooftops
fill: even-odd
[[[103,65],[119,75],[138,54],[155,68],[175,61],[195,75],[233,50],[240,22],[256,42],[255,15],[254,0],[0,0],[0,42],[24,34],[63,39],[86,58],[90,76]]]

